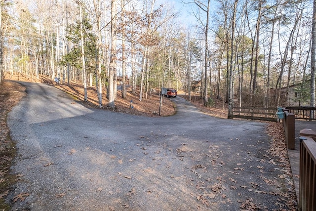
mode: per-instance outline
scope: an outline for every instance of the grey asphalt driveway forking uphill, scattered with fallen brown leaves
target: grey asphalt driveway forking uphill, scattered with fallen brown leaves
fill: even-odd
[[[266,124],[213,118],[181,97],[163,118],[88,109],[23,84],[28,94],[8,117],[12,170],[23,176],[7,201],[29,196],[12,210],[272,210],[290,200],[275,194],[291,178],[278,178]]]

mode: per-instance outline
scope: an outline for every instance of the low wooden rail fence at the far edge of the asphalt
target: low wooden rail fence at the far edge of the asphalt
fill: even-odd
[[[261,120],[276,122],[276,108],[259,108],[246,106],[233,106],[233,119]]]

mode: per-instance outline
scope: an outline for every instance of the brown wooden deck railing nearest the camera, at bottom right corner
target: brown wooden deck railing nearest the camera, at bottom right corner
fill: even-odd
[[[316,142],[312,138],[316,133],[309,130],[300,131],[304,135],[300,136],[300,211],[316,210]]]

